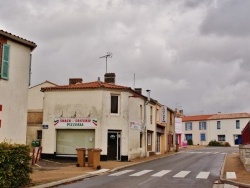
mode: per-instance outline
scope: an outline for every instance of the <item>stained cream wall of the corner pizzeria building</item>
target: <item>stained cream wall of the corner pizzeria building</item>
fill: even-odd
[[[120,96],[119,114],[110,114],[110,94]],[[108,90],[84,90],[84,91],[48,91],[44,93],[43,124],[49,125],[49,129],[43,129],[43,153],[53,154],[56,151],[56,129],[54,118],[71,117],[76,112],[76,117],[97,118],[95,128],[95,147],[102,149],[102,155],[107,154],[108,130],[121,131],[121,155],[129,156],[129,151],[140,155],[143,149],[138,149],[140,132],[130,130],[129,122],[140,121],[139,106],[142,99],[137,102],[129,102],[131,94],[124,91]],[[135,99],[133,99],[135,100]],[[139,101],[139,102],[138,102]],[[129,117],[128,108],[134,109],[132,117]],[[135,115],[138,114],[138,115]],[[131,136],[129,136],[131,134]],[[128,139],[129,138],[129,139]]]

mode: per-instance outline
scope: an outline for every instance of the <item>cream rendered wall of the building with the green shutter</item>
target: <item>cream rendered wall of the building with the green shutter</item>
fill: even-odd
[[[0,80],[2,127],[0,141],[26,143],[30,48],[7,41],[10,45],[9,80]]]

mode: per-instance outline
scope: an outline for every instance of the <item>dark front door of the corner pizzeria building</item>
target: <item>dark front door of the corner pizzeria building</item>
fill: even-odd
[[[108,160],[121,160],[120,155],[120,132],[108,131]]]

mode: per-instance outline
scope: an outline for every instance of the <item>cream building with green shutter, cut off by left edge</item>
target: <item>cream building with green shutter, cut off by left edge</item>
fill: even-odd
[[[0,142],[26,143],[31,52],[36,44],[0,30]]]

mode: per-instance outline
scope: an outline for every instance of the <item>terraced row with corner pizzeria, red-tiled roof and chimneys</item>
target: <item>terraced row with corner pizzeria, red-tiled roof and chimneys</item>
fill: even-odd
[[[174,149],[174,111],[116,85],[115,74],[104,82],[42,87],[44,93],[42,157],[76,156],[76,148],[100,148],[101,160],[130,161]]]

